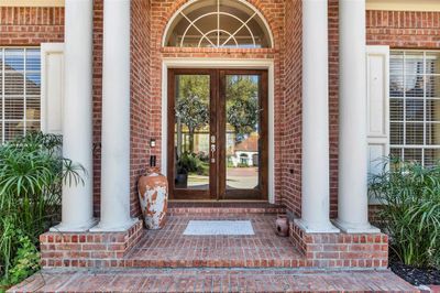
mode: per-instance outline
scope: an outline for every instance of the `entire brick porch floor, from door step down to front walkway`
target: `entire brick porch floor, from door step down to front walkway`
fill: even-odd
[[[284,207],[172,203],[164,229],[143,231],[124,268],[46,269],[10,292],[417,292],[387,270],[311,269],[275,235]],[[254,236],[184,236],[191,219],[249,219]]]

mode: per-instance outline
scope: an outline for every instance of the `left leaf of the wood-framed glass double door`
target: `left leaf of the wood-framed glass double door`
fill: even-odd
[[[176,198],[210,198],[211,74],[174,70],[170,106]],[[170,80],[173,80],[170,79]]]

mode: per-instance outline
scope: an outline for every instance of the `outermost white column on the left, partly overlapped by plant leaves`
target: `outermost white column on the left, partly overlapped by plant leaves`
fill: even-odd
[[[63,155],[81,164],[84,184],[63,185],[62,224],[54,231],[84,231],[92,218],[92,0],[65,2]]]

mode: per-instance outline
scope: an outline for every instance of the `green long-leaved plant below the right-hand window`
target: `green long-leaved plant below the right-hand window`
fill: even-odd
[[[440,268],[440,165],[391,159],[372,176],[370,192],[383,204],[382,228],[400,261]]]

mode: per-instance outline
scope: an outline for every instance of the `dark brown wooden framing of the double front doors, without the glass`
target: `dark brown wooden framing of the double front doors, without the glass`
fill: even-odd
[[[210,135],[217,137],[216,164],[212,167],[210,163],[210,187],[207,191],[197,189],[179,189],[175,193],[174,172],[175,172],[175,76],[176,75],[209,75],[210,76]],[[261,145],[258,155],[258,182],[261,184],[261,193],[253,193],[251,189],[241,189],[237,192],[226,191],[226,164],[219,164],[220,158],[226,159],[226,105],[224,96],[226,75],[260,75],[258,83],[260,107],[262,109],[260,116],[261,126]],[[219,104],[219,105],[216,105]],[[217,110],[220,113],[217,116]],[[232,68],[167,68],[167,176],[169,183],[170,199],[187,199],[187,200],[221,200],[235,199],[238,200],[267,200],[268,199],[268,69],[232,69]],[[217,118],[219,117],[219,121]],[[212,127],[215,126],[215,127]],[[219,148],[220,146],[220,148]],[[264,163],[262,163],[264,162]],[[217,177],[216,177],[217,176]],[[224,184],[223,184],[224,183]],[[235,195],[235,196],[234,196]],[[243,196],[245,195],[245,196]]]

